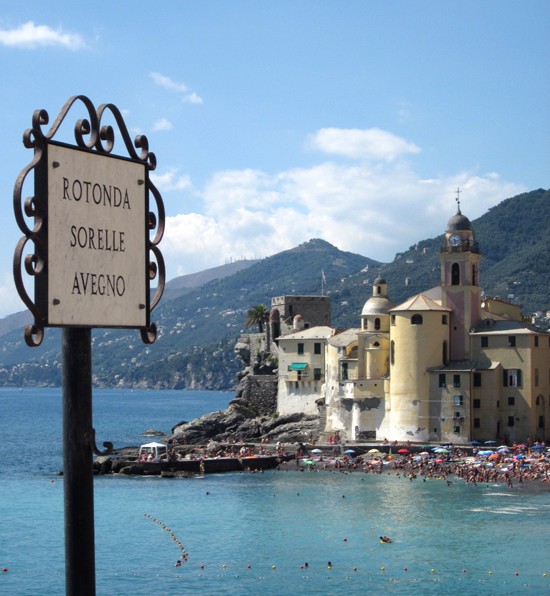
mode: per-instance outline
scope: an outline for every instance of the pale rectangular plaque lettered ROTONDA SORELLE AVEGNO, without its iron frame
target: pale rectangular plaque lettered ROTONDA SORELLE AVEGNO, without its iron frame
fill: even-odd
[[[48,146],[48,324],[148,324],[144,164]]]

